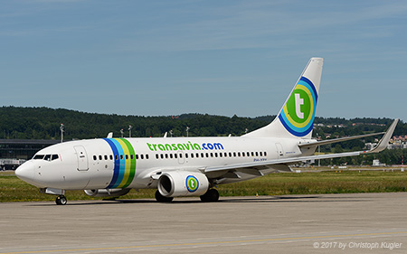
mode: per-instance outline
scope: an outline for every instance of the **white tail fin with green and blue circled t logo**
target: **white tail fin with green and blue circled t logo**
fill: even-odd
[[[323,62],[322,58],[311,58],[277,118],[245,136],[311,138]]]

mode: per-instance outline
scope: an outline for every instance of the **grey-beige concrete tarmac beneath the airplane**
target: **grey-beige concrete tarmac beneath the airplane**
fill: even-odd
[[[407,253],[407,193],[0,203],[0,253]]]

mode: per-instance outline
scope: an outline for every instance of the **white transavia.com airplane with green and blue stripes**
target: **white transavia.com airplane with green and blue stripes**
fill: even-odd
[[[15,174],[41,193],[67,203],[66,190],[115,198],[131,189],[156,189],[157,202],[200,196],[216,202],[218,184],[236,183],[308,160],[378,153],[386,148],[398,119],[369,151],[314,155],[317,146],[383,133],[317,141],[312,129],[317,109],[322,58],[311,58],[277,118],[242,136],[143,137],[76,140],[48,146]]]

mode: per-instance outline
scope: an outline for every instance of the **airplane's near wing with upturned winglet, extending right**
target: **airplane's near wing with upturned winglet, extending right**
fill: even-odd
[[[387,147],[387,144],[389,144],[389,140],[393,136],[393,131],[394,131],[394,128],[396,127],[398,121],[399,121],[399,119],[395,119],[393,121],[392,125],[387,129],[387,131],[385,132],[384,136],[379,141],[377,146],[375,146],[373,149],[371,149],[369,151],[356,151],[356,152],[328,154],[328,155],[308,155],[308,156],[298,156],[298,157],[289,157],[289,158],[268,160],[268,161],[262,161],[262,162],[253,162],[253,163],[248,163],[248,164],[210,166],[210,167],[204,168],[203,171],[204,171],[204,173],[211,173],[211,172],[217,172],[217,171],[230,171],[230,170],[241,170],[241,169],[260,170],[264,166],[273,167],[273,165],[279,165],[279,166],[286,165],[285,171],[287,171],[287,169],[289,168],[287,165],[295,164],[298,162],[305,162],[308,160],[330,159],[330,158],[338,158],[338,157],[346,157],[346,156],[356,156],[356,155],[362,155],[362,154],[379,153]],[[376,135],[376,134],[374,134],[374,135]],[[362,135],[362,136],[364,136],[364,135]],[[372,136],[372,135],[369,134],[368,136]],[[345,138],[348,138],[348,137],[345,137]],[[350,139],[346,139],[346,140],[350,140]],[[344,140],[342,140],[342,141],[344,141]],[[312,145],[314,145],[314,144],[315,143],[313,143]],[[282,167],[282,169],[284,170],[284,167]]]

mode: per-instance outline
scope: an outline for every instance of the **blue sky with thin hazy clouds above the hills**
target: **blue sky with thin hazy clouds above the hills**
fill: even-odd
[[[276,115],[323,57],[317,117],[407,121],[406,1],[0,3],[0,106]]]

